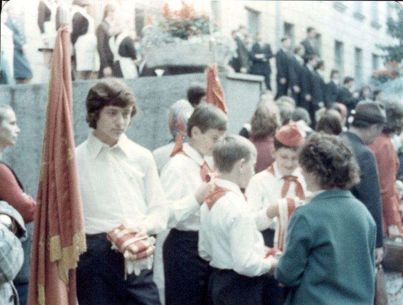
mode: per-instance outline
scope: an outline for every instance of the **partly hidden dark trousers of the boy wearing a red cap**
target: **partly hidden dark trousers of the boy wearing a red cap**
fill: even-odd
[[[261,232],[264,245],[270,248],[274,247],[275,231],[267,228]],[[279,282],[275,280],[273,275],[262,275],[263,290],[262,304],[263,305],[281,305],[284,304],[287,297],[287,288],[280,287]]]

